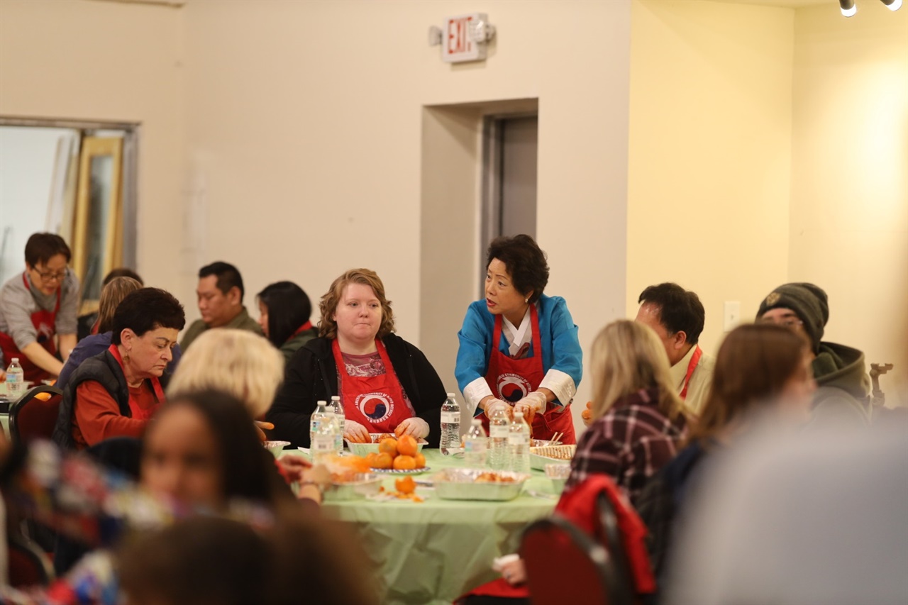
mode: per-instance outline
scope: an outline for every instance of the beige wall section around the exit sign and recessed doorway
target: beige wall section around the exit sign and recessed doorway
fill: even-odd
[[[429,25],[479,8],[498,27],[489,60],[442,63]],[[248,290],[290,278],[317,296],[368,265],[400,334],[432,341],[429,358],[453,389],[456,331],[478,294],[478,174],[444,203],[422,187],[476,147],[467,133],[449,166],[424,156],[423,129],[445,124],[423,107],[538,98],[550,292],[568,299],[584,344],[624,312],[629,2],[193,2],[185,12],[187,155],[191,181],[207,183],[203,256],[242,258]],[[420,225],[446,213],[457,221],[437,240],[449,246],[442,258],[428,250],[438,224]],[[420,290],[449,292],[451,280],[466,285],[420,311]]]

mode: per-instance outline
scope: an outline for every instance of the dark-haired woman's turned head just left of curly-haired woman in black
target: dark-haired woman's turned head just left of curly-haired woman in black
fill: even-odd
[[[284,362],[306,342],[319,335],[309,318],[312,303],[302,288],[292,282],[276,282],[256,294],[259,302],[259,325],[271,344],[281,350]]]

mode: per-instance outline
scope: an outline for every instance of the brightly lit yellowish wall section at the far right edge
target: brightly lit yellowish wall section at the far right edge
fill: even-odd
[[[829,294],[826,340],[895,363],[881,386],[906,405],[908,10],[797,11],[793,99],[789,279]]]

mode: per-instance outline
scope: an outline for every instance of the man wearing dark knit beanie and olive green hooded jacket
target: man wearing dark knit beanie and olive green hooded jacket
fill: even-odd
[[[809,343],[818,387],[814,424],[870,423],[870,378],[864,368],[864,352],[824,342],[829,301],[823,288],[813,283],[780,285],[760,303],[756,321],[783,325]]]

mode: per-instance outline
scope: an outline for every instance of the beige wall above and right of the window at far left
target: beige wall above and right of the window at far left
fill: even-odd
[[[0,114],[142,123],[138,270],[174,292],[183,241],[182,39],[173,8],[0,2]]]

